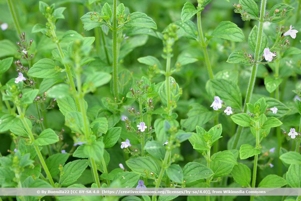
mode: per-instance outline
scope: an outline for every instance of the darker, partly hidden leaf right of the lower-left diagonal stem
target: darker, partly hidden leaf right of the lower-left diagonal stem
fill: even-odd
[[[55,177],[60,172],[60,164],[64,165],[68,158],[69,154],[67,153],[57,153],[46,159],[45,162],[52,177]]]

